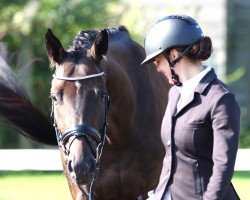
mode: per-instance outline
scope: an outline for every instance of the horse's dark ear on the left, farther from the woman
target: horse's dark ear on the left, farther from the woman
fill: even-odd
[[[52,33],[51,29],[47,29],[45,34],[45,46],[51,63],[61,64],[63,57],[67,52],[64,50],[59,39]]]

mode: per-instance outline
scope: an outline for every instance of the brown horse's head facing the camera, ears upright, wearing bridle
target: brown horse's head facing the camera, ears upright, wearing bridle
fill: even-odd
[[[86,33],[87,34],[87,33]],[[65,50],[48,29],[45,45],[52,68],[52,112],[64,171],[79,185],[89,185],[98,167],[107,126],[108,93],[101,60],[108,50],[108,32],[93,44],[81,38]],[[85,191],[86,192],[86,191]]]

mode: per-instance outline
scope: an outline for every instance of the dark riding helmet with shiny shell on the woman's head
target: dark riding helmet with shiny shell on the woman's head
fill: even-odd
[[[170,15],[158,20],[149,30],[145,39],[146,64],[154,57],[173,47],[191,47],[203,37],[198,23],[186,15]]]

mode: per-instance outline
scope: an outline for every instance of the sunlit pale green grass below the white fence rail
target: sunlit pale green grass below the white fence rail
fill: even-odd
[[[235,172],[233,185],[242,200],[250,197],[250,171]],[[2,172],[0,200],[71,200],[62,172]]]

